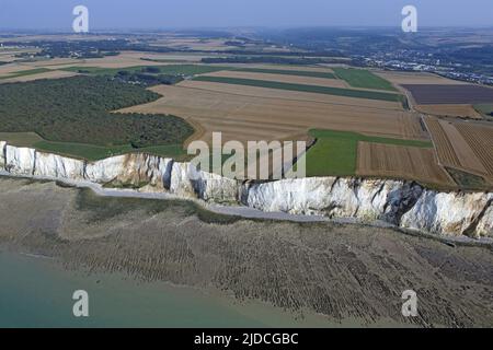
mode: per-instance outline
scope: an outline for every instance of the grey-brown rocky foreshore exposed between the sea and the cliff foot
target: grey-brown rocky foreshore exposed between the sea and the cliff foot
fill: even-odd
[[[68,268],[220,290],[295,315],[311,310],[332,322],[493,325],[489,248],[359,225],[237,220],[191,206],[3,178],[0,246]],[[406,289],[417,292],[416,318],[401,316]]]

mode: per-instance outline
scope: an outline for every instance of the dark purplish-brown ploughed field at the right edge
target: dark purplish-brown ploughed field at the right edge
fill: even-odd
[[[493,103],[493,89],[459,84],[402,84],[419,105]]]

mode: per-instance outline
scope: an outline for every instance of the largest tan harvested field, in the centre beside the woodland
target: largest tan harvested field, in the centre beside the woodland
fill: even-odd
[[[232,91],[216,91],[217,85]],[[209,86],[213,90],[207,90]],[[221,131],[223,140],[297,140],[310,128],[424,138],[419,117],[395,109],[392,103],[253,89],[193,81],[179,86],[160,85],[152,91],[162,94],[162,98],[123,110],[177,115],[198,126],[195,139],[205,141],[210,141],[213,131]],[[294,94],[298,98],[293,98]]]

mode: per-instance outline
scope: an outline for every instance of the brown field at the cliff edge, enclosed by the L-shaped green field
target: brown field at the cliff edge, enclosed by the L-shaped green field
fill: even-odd
[[[356,173],[455,186],[447,172],[437,164],[434,150],[425,148],[358,142]]]

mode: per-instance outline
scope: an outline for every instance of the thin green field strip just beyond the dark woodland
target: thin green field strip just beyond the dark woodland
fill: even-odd
[[[168,66],[136,66],[127,68],[99,68],[99,67],[69,67],[65,71],[88,73],[95,75],[116,75],[121,71],[127,72],[144,72],[146,69],[159,69],[160,74],[175,74],[175,75],[196,75],[217,72],[220,70],[228,70],[227,67],[213,67],[203,65],[168,65]]]

